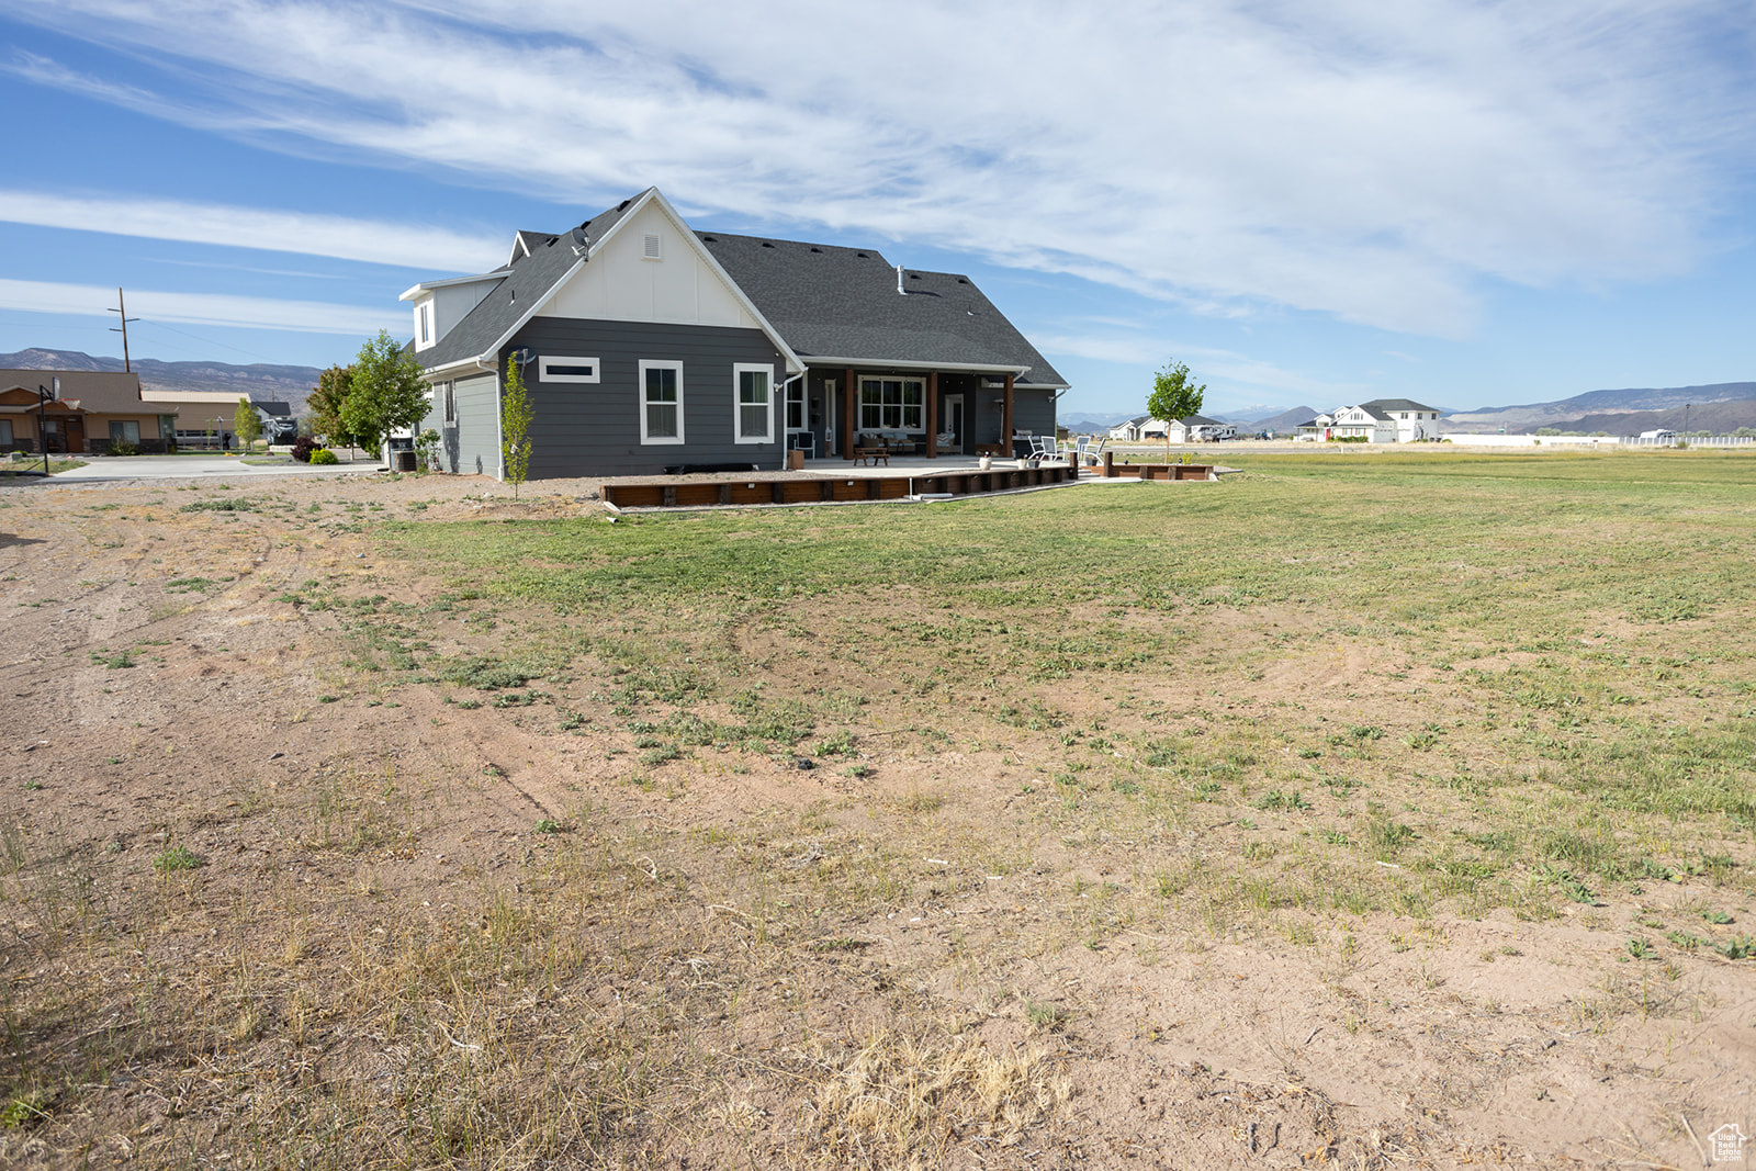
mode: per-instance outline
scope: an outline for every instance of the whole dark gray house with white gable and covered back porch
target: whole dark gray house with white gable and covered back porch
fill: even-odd
[[[1054,434],[1068,384],[966,276],[876,249],[694,232],[648,188],[571,233],[518,232],[507,262],[423,281],[414,358],[441,465],[502,476],[500,388],[518,362],[530,476],[780,467]]]

